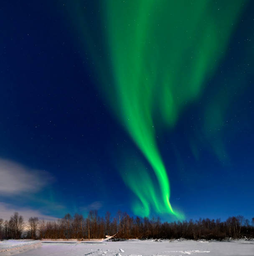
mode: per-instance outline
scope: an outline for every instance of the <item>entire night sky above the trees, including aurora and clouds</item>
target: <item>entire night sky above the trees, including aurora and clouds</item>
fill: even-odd
[[[254,217],[253,10],[1,1],[0,213]]]

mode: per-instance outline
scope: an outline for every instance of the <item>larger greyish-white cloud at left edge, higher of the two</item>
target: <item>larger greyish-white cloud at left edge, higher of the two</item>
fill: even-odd
[[[16,195],[20,192],[37,192],[52,181],[48,172],[26,168],[0,159],[0,194]]]

